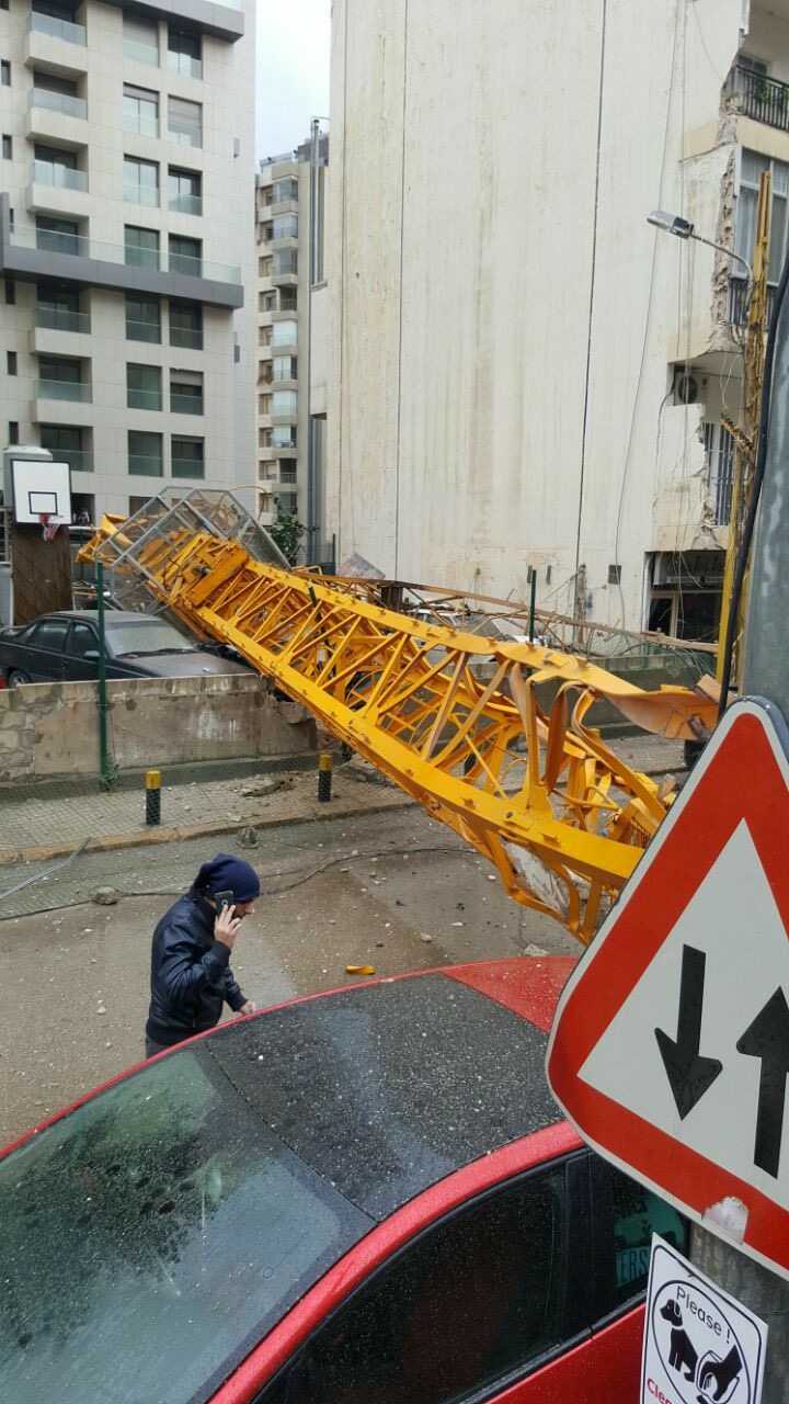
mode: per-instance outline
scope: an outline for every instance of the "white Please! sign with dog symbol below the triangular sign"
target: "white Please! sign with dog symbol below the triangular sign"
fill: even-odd
[[[656,1234],[642,1404],[760,1404],[765,1348],[764,1321]]]

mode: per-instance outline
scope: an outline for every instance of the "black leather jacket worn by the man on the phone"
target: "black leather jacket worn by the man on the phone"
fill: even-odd
[[[145,1032],[156,1043],[170,1047],[215,1028],[225,1000],[236,1012],[246,1004],[230,970],[230,949],[213,939],[215,920],[213,907],[192,887],[153,932]]]

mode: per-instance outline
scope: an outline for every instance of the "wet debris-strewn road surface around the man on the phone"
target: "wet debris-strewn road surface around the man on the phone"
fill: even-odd
[[[233,852],[236,840],[87,854],[0,901],[0,1146],[139,1060],[150,934],[218,848]],[[263,897],[233,967],[258,1002],[345,984],[348,963],[396,974],[580,949],[417,807],[265,828],[244,856]],[[1,890],[35,870],[3,868]],[[104,885],[126,896],[95,906]]]

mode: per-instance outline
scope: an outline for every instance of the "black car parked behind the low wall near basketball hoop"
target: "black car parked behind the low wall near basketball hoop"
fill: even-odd
[[[166,619],[114,609],[105,615],[108,678],[181,678],[246,673],[246,663],[199,644]],[[22,682],[86,682],[98,675],[95,609],[41,615],[24,628],[0,630],[0,677]]]

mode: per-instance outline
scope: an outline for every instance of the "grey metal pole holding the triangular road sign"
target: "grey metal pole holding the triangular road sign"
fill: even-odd
[[[743,694],[789,719],[789,299],[775,338],[764,486],[751,560]],[[758,775],[754,775],[758,786]],[[747,941],[747,932],[743,934]],[[785,1154],[788,1154],[785,1151]],[[768,1325],[762,1404],[789,1404],[789,1282],[705,1228],[692,1230],[691,1262]]]

